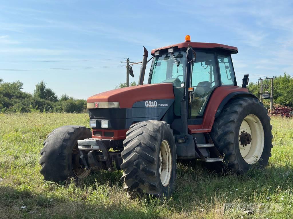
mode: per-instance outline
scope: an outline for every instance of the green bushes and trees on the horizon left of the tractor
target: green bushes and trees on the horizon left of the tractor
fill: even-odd
[[[86,100],[66,94],[57,97],[44,81],[35,85],[33,94],[23,92],[21,81],[4,82],[0,78],[0,112],[86,112]]]

